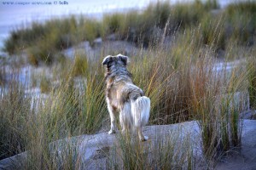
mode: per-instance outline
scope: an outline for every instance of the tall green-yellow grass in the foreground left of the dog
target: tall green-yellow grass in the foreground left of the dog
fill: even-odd
[[[108,112],[103,74],[98,77],[96,72],[88,73],[84,83],[77,86],[70,70],[70,77],[63,79],[59,87],[49,88],[46,98],[26,94],[19,82],[10,82],[8,88],[1,91],[0,99],[1,159],[30,150],[25,168],[55,169],[60,168],[59,164],[71,168],[73,159],[68,156],[73,156],[75,150],[59,153],[55,149],[55,154],[68,158],[58,162],[49,144],[75,135],[96,133],[102,127]],[[65,147],[68,150],[73,146],[66,144]]]

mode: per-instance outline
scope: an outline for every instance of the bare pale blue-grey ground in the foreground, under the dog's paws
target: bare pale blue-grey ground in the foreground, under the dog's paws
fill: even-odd
[[[180,144],[189,139],[193,145],[193,154],[199,159],[202,157],[200,128],[197,122],[183,122],[172,125],[143,127],[143,132],[149,137],[144,142],[145,148],[154,149],[160,142],[175,139],[175,144]],[[106,161],[113,145],[119,143],[119,133],[109,135],[97,133],[81,135],[71,139],[59,140],[49,147],[57,148],[59,152],[66,150],[67,144],[73,145],[76,150],[80,169],[105,169]],[[132,138],[133,139],[133,138]],[[256,169],[256,121],[244,120],[242,128],[241,150],[232,152],[229,156],[219,161],[216,169]],[[69,147],[72,148],[72,147]],[[20,169],[25,163],[26,153],[0,161],[0,169]]]

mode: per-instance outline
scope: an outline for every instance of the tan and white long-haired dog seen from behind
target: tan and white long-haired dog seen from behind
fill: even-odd
[[[129,58],[122,54],[108,55],[102,61],[106,67],[106,102],[111,121],[108,133],[116,132],[116,116],[119,113],[122,133],[132,127],[137,130],[139,139],[146,141],[148,137],[143,135],[142,127],[148,123],[150,99],[132,82],[131,73],[126,68],[128,61]]]

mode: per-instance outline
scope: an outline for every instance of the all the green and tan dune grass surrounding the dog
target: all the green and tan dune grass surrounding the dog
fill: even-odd
[[[231,5],[224,13],[212,15],[207,10],[218,8],[214,2],[196,1],[174,7],[157,3],[142,13],[106,15],[102,22],[71,17],[34,23],[30,28],[13,31],[5,50],[15,54],[20,48],[26,49],[32,65],[42,62],[52,65],[53,77],[41,75],[35,82],[47,97],[35,98],[27,94],[18,80],[10,82],[6,91],[0,91],[0,159],[30,150],[24,167],[27,169],[77,169],[81,166],[72,145],[64,145],[67,152],[59,153],[49,144],[105,128],[108,111],[101,62],[108,54],[102,49],[98,58],[89,59],[85,54],[76,53],[71,60],[60,54],[60,50],[85,40],[93,44],[96,37],[106,39],[112,33],[120,39],[136,42],[138,47],[147,46],[146,50],[141,48],[130,56],[128,70],[137,86],[151,99],[149,124],[197,120],[209,165],[239,146],[239,113],[246,109],[244,103],[247,102],[243,92],[248,90],[252,109],[256,103],[255,59],[253,50],[249,50],[253,45],[248,43],[253,34],[250,29],[254,28],[255,10],[243,8],[246,4],[254,8],[255,4]],[[234,25],[233,20],[239,20],[240,24],[247,22],[246,29]],[[227,34],[227,29],[235,28],[240,33],[229,31],[231,33]],[[242,42],[238,41],[244,36]],[[165,42],[167,37],[172,37],[169,42]],[[243,55],[247,66],[236,65],[230,71],[224,68],[218,71],[218,60],[213,56],[218,56],[220,49],[225,50],[224,59],[239,59],[240,54]],[[0,72],[0,81],[1,75],[4,77],[4,71]],[[171,141],[160,144],[153,150],[157,152],[154,157],[149,158],[139,143],[119,140],[120,150],[113,150],[109,168],[195,168],[189,140],[181,145]],[[173,150],[174,145],[178,145],[180,151],[187,151]]]

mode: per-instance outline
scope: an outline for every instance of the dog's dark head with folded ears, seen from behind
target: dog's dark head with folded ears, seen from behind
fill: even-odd
[[[102,65],[108,68],[108,71],[114,67],[126,67],[128,64],[129,58],[125,55],[118,54],[116,56],[108,55],[102,61]]]

